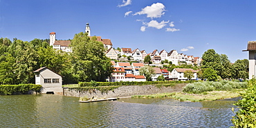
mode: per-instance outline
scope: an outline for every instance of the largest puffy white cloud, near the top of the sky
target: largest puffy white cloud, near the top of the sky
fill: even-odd
[[[136,12],[134,15],[147,14],[147,17],[158,18],[165,14],[164,11],[165,6],[163,5],[163,3],[153,3],[151,6],[143,8],[140,12]]]

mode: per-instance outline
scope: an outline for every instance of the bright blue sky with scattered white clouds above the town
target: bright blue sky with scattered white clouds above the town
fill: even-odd
[[[202,56],[208,49],[234,63],[256,41],[256,1],[236,0],[0,0],[0,37],[73,39],[90,23],[91,36],[113,47],[177,50]]]

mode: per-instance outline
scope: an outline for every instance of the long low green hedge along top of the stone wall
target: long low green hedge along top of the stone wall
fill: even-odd
[[[79,87],[97,87],[97,86],[120,86],[120,85],[158,85],[170,83],[194,83],[196,81],[127,81],[127,82],[81,82]]]

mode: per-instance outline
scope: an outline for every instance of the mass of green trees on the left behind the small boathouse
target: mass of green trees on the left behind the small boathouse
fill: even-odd
[[[102,42],[86,33],[75,34],[72,53],[53,50],[48,39],[21,41],[0,39],[0,84],[35,83],[33,71],[48,67],[64,76],[63,83],[106,81],[113,72],[110,59],[104,55]]]

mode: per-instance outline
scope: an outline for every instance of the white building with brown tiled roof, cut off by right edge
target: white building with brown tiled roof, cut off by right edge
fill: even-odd
[[[248,41],[247,50],[249,52],[249,79],[256,76],[256,41]]]

